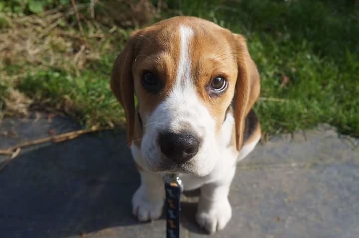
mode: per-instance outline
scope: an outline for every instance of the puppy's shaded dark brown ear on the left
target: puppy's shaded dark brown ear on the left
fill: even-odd
[[[123,106],[126,113],[126,141],[130,146],[133,138],[135,123],[135,101],[134,101],[134,82],[132,75],[132,64],[134,61],[134,46],[136,33],[131,34],[125,48],[117,56],[112,67],[110,86],[117,100]]]

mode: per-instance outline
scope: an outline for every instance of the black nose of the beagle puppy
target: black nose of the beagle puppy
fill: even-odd
[[[197,154],[200,141],[190,133],[164,132],[159,135],[161,152],[176,163],[184,163]]]

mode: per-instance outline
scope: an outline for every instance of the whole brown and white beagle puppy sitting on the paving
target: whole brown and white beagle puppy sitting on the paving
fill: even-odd
[[[223,229],[232,216],[236,163],[261,137],[251,110],[260,78],[245,38],[196,17],[160,21],[132,33],[114,63],[111,89],[141,175],[134,216],[158,219],[163,176],[177,173],[185,190],[201,190],[198,224],[210,233]]]

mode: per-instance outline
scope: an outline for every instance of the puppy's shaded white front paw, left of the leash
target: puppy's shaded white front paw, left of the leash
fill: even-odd
[[[132,196],[132,214],[140,222],[155,220],[161,217],[163,204],[162,198],[146,196],[140,187]]]

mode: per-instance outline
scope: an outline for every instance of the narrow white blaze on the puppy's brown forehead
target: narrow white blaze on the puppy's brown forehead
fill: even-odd
[[[191,58],[189,56],[189,43],[193,35],[193,30],[189,26],[180,25],[179,26],[179,36],[180,36],[180,54],[179,54],[179,64],[176,73],[175,88],[185,86],[188,83],[191,83]]]

